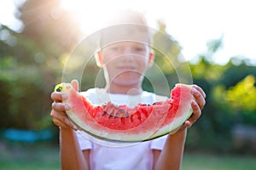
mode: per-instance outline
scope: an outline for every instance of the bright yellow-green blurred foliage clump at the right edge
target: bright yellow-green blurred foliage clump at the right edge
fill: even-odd
[[[216,99],[221,99],[219,104],[227,111],[236,122],[244,124],[256,123],[256,87],[255,77],[248,75],[235,86],[228,88],[218,88],[216,91]],[[228,107],[227,107],[228,106]]]

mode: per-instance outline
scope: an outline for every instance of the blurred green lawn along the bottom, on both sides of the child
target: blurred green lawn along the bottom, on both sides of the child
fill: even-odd
[[[256,156],[222,156],[185,153],[182,170],[254,170]],[[20,144],[0,141],[0,169],[57,170],[58,146],[49,143]]]

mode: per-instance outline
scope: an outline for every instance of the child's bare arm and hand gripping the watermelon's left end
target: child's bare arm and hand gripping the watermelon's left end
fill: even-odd
[[[72,82],[73,87],[78,89],[78,82]],[[50,116],[56,126],[60,127],[60,146],[61,146],[61,169],[89,169],[89,152],[82,151],[75,130],[78,129],[71,122],[66,114],[69,105],[61,103],[67,96],[54,92],[51,94],[52,111]]]

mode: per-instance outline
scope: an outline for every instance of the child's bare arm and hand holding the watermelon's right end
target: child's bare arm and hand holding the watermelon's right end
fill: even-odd
[[[206,94],[201,88],[194,85],[191,89],[191,94],[193,94],[195,98],[195,100],[191,101],[193,115],[184,122],[183,126],[180,127],[176,133],[168,134],[163,150],[153,150],[154,169],[156,170],[178,170],[181,168],[187,127],[191,127],[201,116],[201,110],[206,104]]]

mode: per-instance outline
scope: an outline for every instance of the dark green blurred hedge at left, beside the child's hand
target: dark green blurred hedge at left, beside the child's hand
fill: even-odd
[[[18,65],[10,57],[0,59],[0,68],[1,127],[49,127],[50,122],[45,121],[49,119],[45,116],[49,112],[46,102],[50,102],[49,87],[44,82],[47,72],[36,65]]]

